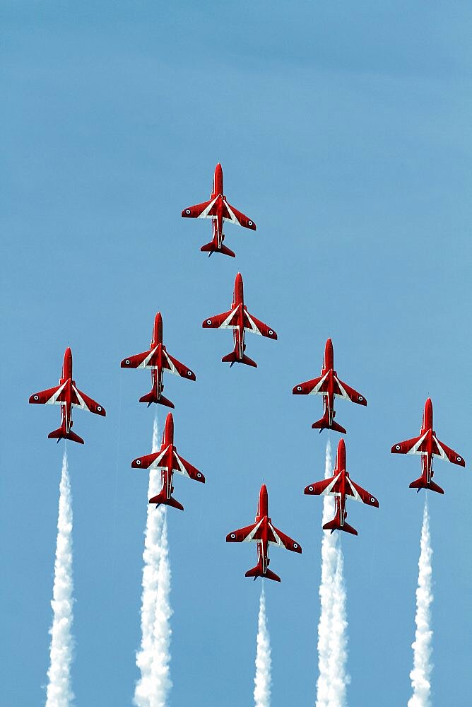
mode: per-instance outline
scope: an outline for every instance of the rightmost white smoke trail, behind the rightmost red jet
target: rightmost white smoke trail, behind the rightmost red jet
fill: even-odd
[[[413,696],[408,707],[429,707],[431,704],[431,654],[432,630],[432,549],[430,537],[430,517],[427,512],[427,497],[423,511],[421,528],[421,552],[418,562],[418,588],[416,590],[415,640],[413,648],[413,670],[410,673]]]

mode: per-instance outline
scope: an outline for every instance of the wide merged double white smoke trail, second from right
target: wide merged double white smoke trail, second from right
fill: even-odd
[[[331,443],[326,444],[324,478],[332,476]],[[323,525],[334,517],[333,496],[323,497]],[[343,552],[338,532],[324,531],[321,539],[321,603],[318,622],[317,707],[343,707],[346,704],[347,621],[346,589],[343,578]]]

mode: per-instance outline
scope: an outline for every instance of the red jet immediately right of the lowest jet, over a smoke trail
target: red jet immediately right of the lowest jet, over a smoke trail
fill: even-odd
[[[308,496],[334,496],[336,503],[336,515],[333,520],[325,523],[323,530],[344,530],[345,532],[350,532],[353,535],[357,535],[358,531],[346,523],[347,511],[346,511],[346,498],[351,498],[353,501],[360,501],[360,503],[367,503],[367,506],[374,506],[374,508],[379,508],[379,501],[377,498],[372,496],[372,493],[365,491],[361,486],[355,484],[352,479],[350,479],[348,472],[346,472],[346,445],[344,440],[341,438],[338,443],[338,453],[336,454],[336,467],[334,467],[333,476],[330,479],[324,479],[323,481],[316,481],[314,484],[310,484],[306,487],[305,493]]]

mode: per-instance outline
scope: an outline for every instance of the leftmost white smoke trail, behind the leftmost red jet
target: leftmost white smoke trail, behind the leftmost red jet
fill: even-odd
[[[68,707],[73,700],[71,688],[72,638],[72,506],[67,452],[62,457],[57,518],[56,561],[52,591],[50,663],[47,677],[46,707]]]

